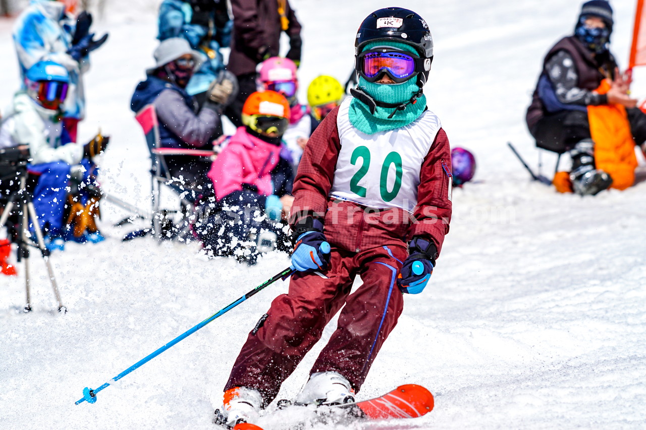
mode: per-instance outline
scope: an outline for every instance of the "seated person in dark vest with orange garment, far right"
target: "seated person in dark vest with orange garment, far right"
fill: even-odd
[[[560,191],[597,194],[634,183],[634,145],[646,150],[646,115],[628,95],[609,43],[612,8],[605,0],[584,3],[574,35],[550,48],[526,121],[540,148],[568,151],[569,174],[559,172]]]

